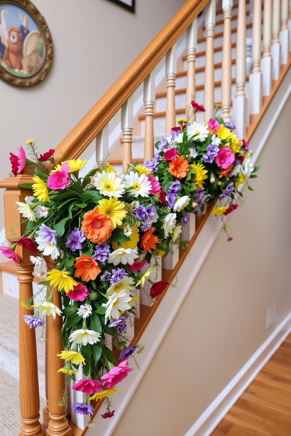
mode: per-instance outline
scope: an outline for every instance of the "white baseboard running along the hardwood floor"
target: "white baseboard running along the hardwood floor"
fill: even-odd
[[[291,312],[233,377],[185,436],[209,436],[291,331]]]

